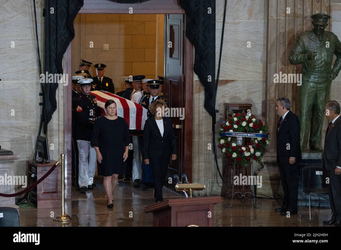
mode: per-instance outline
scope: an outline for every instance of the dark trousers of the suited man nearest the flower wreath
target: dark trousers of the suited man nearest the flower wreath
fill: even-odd
[[[289,161],[289,159],[288,159]],[[284,192],[283,206],[288,206],[288,209],[297,211],[298,199],[298,164],[285,165],[279,164],[279,172]]]

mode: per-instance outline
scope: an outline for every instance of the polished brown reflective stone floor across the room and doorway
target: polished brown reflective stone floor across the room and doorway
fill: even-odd
[[[72,188],[72,200],[65,201],[65,212],[71,215],[71,222],[62,223],[53,221],[53,217],[60,214],[59,209],[19,208],[20,226],[30,227],[151,227],[152,214],[143,212],[144,207],[154,204],[153,189],[147,191],[134,188],[131,183],[119,182],[114,190],[114,208],[107,208],[107,199],[101,177],[95,177],[96,187],[81,194],[75,187]],[[163,188],[164,199],[183,199],[178,193]],[[298,215],[290,218],[276,213],[280,200],[257,199],[262,206],[257,209],[253,200],[241,203],[234,199],[231,208],[225,207],[226,200],[214,205],[214,226],[217,227],[329,227],[322,221],[330,219],[330,209],[312,209],[311,223],[300,219]],[[230,200],[228,200],[231,202]],[[309,218],[309,210],[303,211]]]

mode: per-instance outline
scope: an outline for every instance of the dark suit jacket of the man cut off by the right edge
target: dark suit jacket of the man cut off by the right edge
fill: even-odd
[[[328,170],[341,167],[341,117],[336,119],[330,130],[327,128],[322,165]]]

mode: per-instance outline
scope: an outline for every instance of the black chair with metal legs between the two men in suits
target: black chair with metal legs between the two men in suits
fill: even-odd
[[[323,171],[324,169],[322,166],[306,166],[302,168],[302,190],[299,217],[308,223],[311,221],[310,195],[328,194],[327,184],[323,177],[324,175],[322,174]],[[309,221],[301,216],[303,192],[309,195]]]

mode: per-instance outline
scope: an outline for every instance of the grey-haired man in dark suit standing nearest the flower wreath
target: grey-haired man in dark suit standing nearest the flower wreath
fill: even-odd
[[[284,201],[275,209],[281,215],[297,214],[298,162],[302,159],[300,148],[300,123],[290,111],[290,100],[281,97],[276,100],[276,112],[281,116],[276,133],[277,162],[279,166]]]

